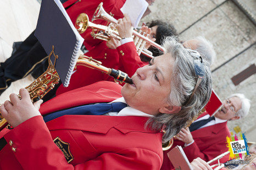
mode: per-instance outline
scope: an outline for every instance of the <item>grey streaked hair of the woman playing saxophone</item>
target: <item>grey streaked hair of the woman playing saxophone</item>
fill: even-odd
[[[194,92],[198,76],[194,71],[194,53],[191,49],[184,48],[176,41],[176,37],[167,37],[164,41],[165,53],[170,53],[174,58],[171,75],[171,92],[166,101],[170,106],[181,106],[181,110],[176,114],[158,114],[148,120],[146,125],[151,124],[151,128],[160,131],[164,130],[162,142],[170,140],[181,128],[197,116],[210,99],[212,93],[212,75],[209,63],[203,61],[205,75],[201,83]]]

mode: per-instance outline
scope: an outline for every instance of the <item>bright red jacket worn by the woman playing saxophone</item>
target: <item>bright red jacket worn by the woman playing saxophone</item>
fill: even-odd
[[[98,82],[58,95],[43,104],[40,111],[47,114],[119,97],[118,84]],[[44,123],[42,116],[32,117],[5,132],[8,144],[0,151],[0,169],[159,169],[163,162],[162,134],[145,130],[147,119],[65,115]],[[63,152],[68,158],[74,157],[70,163],[54,144],[57,137],[69,144]]]

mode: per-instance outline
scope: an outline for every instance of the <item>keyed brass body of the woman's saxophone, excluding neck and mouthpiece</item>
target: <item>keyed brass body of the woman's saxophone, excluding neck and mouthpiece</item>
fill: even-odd
[[[25,87],[29,91],[30,99],[33,103],[43,98],[44,95],[46,95],[51,89],[54,88],[55,84],[59,83],[59,75],[54,67],[55,61],[54,64],[52,64],[51,61],[52,54],[54,55],[56,61],[56,59],[58,59],[58,55],[54,54],[54,46],[52,52],[49,54],[48,57],[49,66],[47,70],[29,86]],[[18,95],[18,97],[20,98],[20,94]],[[3,118],[0,112],[0,131],[5,126],[7,126],[8,129],[12,129],[10,124],[8,124],[5,118]]]

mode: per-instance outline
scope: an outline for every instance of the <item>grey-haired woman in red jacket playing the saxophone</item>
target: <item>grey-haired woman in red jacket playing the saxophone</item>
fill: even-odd
[[[0,168],[159,169],[162,143],[202,109],[212,89],[209,65],[198,53],[173,38],[164,47],[121,90],[97,82],[60,94],[39,111],[42,101],[32,104],[25,89],[21,99],[11,94],[1,106],[14,128],[0,133]]]

